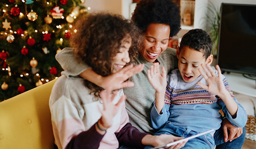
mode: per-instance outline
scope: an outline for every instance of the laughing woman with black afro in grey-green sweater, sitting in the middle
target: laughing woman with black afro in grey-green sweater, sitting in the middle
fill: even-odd
[[[160,67],[164,66],[166,73],[170,73],[171,70],[177,67],[176,50],[167,48],[167,45],[168,39],[180,31],[180,10],[171,0],[141,0],[134,10],[132,21],[139,27],[141,34],[144,36],[143,47],[138,49],[139,56],[135,60],[136,65],[145,65],[142,72],[132,76],[132,74],[127,75],[127,71],[120,71],[105,77],[97,75],[91,69],[88,69],[89,66],[86,65],[79,69],[76,65],[66,67],[64,61],[66,59],[74,59],[74,56],[67,50],[57,54],[56,59],[64,70],[68,70],[71,75],[80,75],[103,88],[106,88],[108,84],[115,84],[112,86],[116,88],[130,87],[133,84],[128,83],[133,82],[134,87],[124,89],[124,94],[127,95],[126,109],[130,122],[140,131],[153,134],[156,130],[151,126],[150,109],[155,100],[155,90],[150,85],[146,74],[154,62],[159,62]],[[78,70],[75,71],[74,67]],[[126,84],[119,83],[128,78],[130,82],[126,82]],[[230,132],[229,135],[228,130]],[[242,136],[239,137],[241,134]],[[245,127],[244,130],[236,128],[229,121],[224,120],[223,128],[220,128],[215,133],[214,138],[215,144],[222,144],[220,146],[226,147],[227,144],[223,143],[227,142],[232,148],[234,146],[232,144],[235,142],[235,146],[240,148],[245,139]],[[235,138],[238,139],[228,142],[228,140]]]

